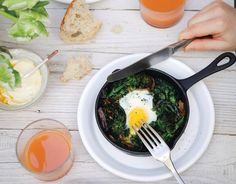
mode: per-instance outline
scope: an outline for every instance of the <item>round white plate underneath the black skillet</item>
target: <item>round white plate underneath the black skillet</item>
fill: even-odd
[[[135,157],[112,146],[101,134],[95,120],[95,100],[107,76],[145,57],[135,54],[117,59],[89,81],[80,98],[78,126],[80,136],[89,154],[108,171],[135,181],[157,181],[171,176],[164,165],[152,157]],[[194,74],[185,64],[170,58],[154,68],[163,70],[176,78]],[[206,150],[214,129],[215,112],[211,96],[205,84],[199,82],[188,91],[190,117],[186,130],[172,150],[172,158],[178,171],[183,172],[196,162]]]

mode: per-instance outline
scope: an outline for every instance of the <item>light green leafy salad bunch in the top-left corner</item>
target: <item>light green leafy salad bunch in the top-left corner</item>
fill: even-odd
[[[14,23],[8,35],[18,41],[48,36],[44,25],[48,20],[45,9],[48,3],[48,0],[0,0],[0,15]]]

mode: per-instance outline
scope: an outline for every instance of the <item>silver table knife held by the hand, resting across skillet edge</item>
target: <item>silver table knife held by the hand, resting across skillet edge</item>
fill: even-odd
[[[134,64],[132,64],[126,68],[115,71],[107,77],[107,82],[115,82],[115,81],[121,80],[121,79],[126,78],[130,75],[134,75],[136,73],[139,73],[142,70],[149,68],[150,66],[160,63],[160,62],[168,59],[170,56],[172,56],[179,49],[186,47],[193,40],[194,39],[178,41],[176,43],[173,43],[173,44],[167,46],[164,49],[161,49],[161,50],[135,62]]]

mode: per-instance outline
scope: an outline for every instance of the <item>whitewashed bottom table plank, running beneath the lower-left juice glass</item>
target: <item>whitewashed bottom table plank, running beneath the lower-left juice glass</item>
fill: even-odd
[[[0,131],[0,182],[40,183],[25,171],[15,157],[15,139],[19,131]],[[76,150],[75,163],[67,176],[53,183],[136,183],[121,179],[102,169],[86,152],[78,132],[72,132]],[[224,148],[222,148],[224,145]],[[203,157],[182,175],[186,183],[215,184],[236,182],[235,136],[214,135]],[[224,151],[222,151],[224,149]],[[27,182],[26,182],[27,181]],[[159,183],[159,182],[158,182]],[[176,183],[174,179],[160,182]]]

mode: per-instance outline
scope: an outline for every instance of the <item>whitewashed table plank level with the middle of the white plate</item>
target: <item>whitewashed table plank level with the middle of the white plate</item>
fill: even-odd
[[[210,60],[203,60],[199,63],[200,67],[206,65]],[[197,61],[192,59],[185,61],[189,65],[197,65]],[[53,63],[51,63],[53,65]],[[198,67],[200,69],[200,67]],[[199,70],[196,68],[195,70]],[[51,68],[54,70],[54,68]],[[76,111],[81,93],[89,79],[96,73],[96,70],[81,81],[71,81],[62,83],[61,68],[59,72],[51,73],[48,89],[43,98],[35,105],[16,112],[0,111],[1,128],[21,129],[31,121],[40,118],[55,118],[64,122],[70,129],[77,129]],[[216,133],[236,134],[236,71],[227,70],[215,74],[205,82],[209,87],[210,93],[216,109]],[[73,94],[73,95],[72,95]],[[15,118],[9,120],[9,117]]]

